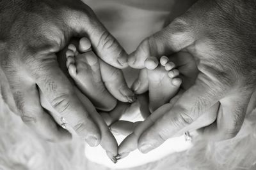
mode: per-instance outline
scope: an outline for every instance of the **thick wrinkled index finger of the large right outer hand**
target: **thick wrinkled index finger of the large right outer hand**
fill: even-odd
[[[220,88],[221,87],[221,88]],[[140,136],[138,147],[147,153],[157,148],[166,139],[175,136],[192,124],[205,110],[217,103],[225,95],[225,85],[220,80],[209,80],[209,76],[198,74],[195,85],[184,92],[172,110],[160,117],[152,127]],[[229,87],[230,89],[230,87]],[[153,113],[154,115],[154,113]]]

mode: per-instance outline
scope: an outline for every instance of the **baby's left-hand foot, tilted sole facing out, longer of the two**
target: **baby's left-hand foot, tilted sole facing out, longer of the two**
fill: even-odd
[[[91,49],[89,39],[81,38],[78,50],[75,45],[70,44],[66,57],[68,72],[81,92],[96,108],[104,111],[112,110],[116,105],[116,99],[102,82],[99,60]]]

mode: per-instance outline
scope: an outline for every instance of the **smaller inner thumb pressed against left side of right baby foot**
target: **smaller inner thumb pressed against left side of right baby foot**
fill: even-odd
[[[143,94],[148,90],[148,76],[147,76],[147,69],[141,69],[139,77],[137,80],[134,81],[132,84],[132,90],[136,94]]]

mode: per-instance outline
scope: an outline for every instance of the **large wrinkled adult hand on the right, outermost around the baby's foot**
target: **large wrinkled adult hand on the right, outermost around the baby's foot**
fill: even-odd
[[[159,108],[161,116],[152,119],[154,124],[140,135],[141,152],[157,148],[219,101],[216,122],[204,132],[217,141],[236,136],[256,83],[255,7],[253,0],[200,0],[162,31],[145,39],[130,55],[129,65],[143,68],[150,56],[184,50],[195,57],[200,71],[195,84],[172,108]]]

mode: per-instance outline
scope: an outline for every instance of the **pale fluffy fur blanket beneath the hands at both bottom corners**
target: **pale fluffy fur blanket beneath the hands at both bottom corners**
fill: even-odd
[[[31,132],[19,117],[0,101],[1,170],[80,170],[108,169],[84,157],[78,139],[49,143]],[[236,138],[220,143],[195,140],[195,147],[169,155],[163,160],[135,169],[256,169],[256,111],[247,115]]]

